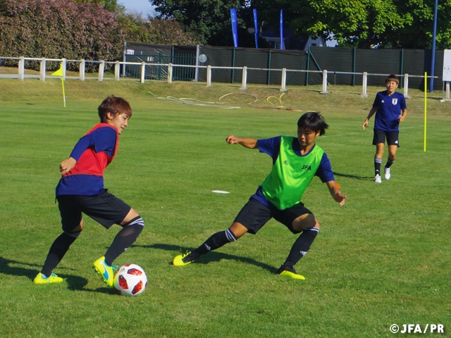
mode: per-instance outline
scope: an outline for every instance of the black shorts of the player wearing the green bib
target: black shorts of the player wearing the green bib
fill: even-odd
[[[242,207],[240,213],[235,218],[235,222],[241,223],[247,227],[247,232],[250,234],[257,234],[257,232],[268,222],[271,218],[274,218],[278,222],[288,227],[293,234],[298,234],[302,231],[293,229],[293,220],[300,215],[311,213],[309,209],[304,207],[304,204],[298,203],[285,210],[279,210],[276,208],[266,208],[257,199],[251,197],[247,204]]]

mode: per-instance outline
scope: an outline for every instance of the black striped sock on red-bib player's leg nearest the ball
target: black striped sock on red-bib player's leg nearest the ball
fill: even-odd
[[[122,230],[116,234],[113,243],[105,253],[105,263],[110,265],[118,256],[127,250],[142,232],[144,228],[144,220],[137,216],[124,225]]]

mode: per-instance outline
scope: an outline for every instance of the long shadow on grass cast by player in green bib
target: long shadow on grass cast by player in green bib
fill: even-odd
[[[140,246],[142,248],[160,249],[160,250],[165,250],[165,251],[176,251],[179,253],[186,253],[188,251],[192,251],[195,249],[195,248],[187,248],[185,246],[178,246],[178,245],[171,245],[171,244],[152,244],[152,245],[133,245],[133,246]],[[221,253],[218,251],[211,251],[207,255],[200,256],[192,264],[207,264],[210,262],[221,261],[221,259],[229,259],[229,260],[234,260],[234,261],[240,261],[242,263],[256,265],[259,268],[268,270],[270,273],[277,273],[277,270],[278,270],[278,268],[275,268],[275,267],[265,264],[265,263],[261,263],[259,261],[255,261],[252,258],[230,255],[228,253]]]

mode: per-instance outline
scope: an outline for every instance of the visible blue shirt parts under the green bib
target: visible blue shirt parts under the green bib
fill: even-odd
[[[277,158],[279,156],[280,151],[280,136],[278,137],[271,137],[271,139],[259,139],[257,140],[257,146],[259,147],[259,151],[261,153],[268,154],[273,158],[273,164],[276,163]],[[307,154],[302,155],[301,154],[301,146],[299,142],[297,141],[297,137],[293,139],[292,142],[293,150],[295,151],[295,154],[298,156],[307,156],[311,153],[311,151],[314,149],[315,146],[312,146],[310,151]],[[326,153],[323,154],[323,157],[321,158],[321,163],[319,164],[318,170],[316,170],[315,176],[318,176],[321,180],[321,182],[329,182],[329,181],[335,181],[335,177],[333,176],[332,172],[332,166],[330,165],[329,158],[327,157]],[[271,204],[270,201],[266,199],[264,196],[261,187],[258,187],[257,192],[255,192],[254,195],[252,195],[254,199],[257,199],[261,204],[266,206],[266,208],[276,208],[273,204]]]

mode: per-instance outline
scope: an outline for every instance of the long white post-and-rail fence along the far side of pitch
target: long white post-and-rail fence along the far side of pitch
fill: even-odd
[[[373,74],[373,73],[351,73],[351,72],[328,72],[327,70],[295,70],[295,69],[274,69],[274,68],[247,68],[244,67],[219,67],[219,66],[213,66],[213,65],[175,65],[172,63],[145,63],[145,62],[110,62],[110,61],[85,61],[85,60],[66,60],[66,58],[8,58],[8,57],[1,57],[1,60],[18,60],[18,74],[17,75],[2,75],[1,77],[10,77],[10,78],[17,78],[18,80],[24,80],[25,77],[28,78],[39,78],[41,81],[45,81],[48,78],[51,78],[51,75],[46,74],[46,66],[47,62],[49,61],[56,61],[60,62],[62,65],[63,70],[63,79],[75,79],[75,80],[81,80],[85,81],[88,79],[88,77],[85,77],[85,66],[86,63],[97,63],[99,64],[99,72],[97,77],[89,77],[89,79],[96,79],[99,81],[104,80],[120,80],[121,75],[121,65],[140,65],[141,66],[141,76],[140,76],[140,82],[144,83],[145,81],[145,74],[146,74],[146,67],[166,67],[167,68],[167,82],[172,83],[173,80],[173,67],[187,67],[187,68],[196,68],[196,70],[199,70],[200,68],[206,69],[206,87],[211,86],[211,70],[213,69],[226,69],[226,70],[242,70],[242,85],[240,89],[245,90],[247,89],[247,72],[249,70],[256,70],[256,71],[271,71],[271,72],[281,72],[281,83],[280,83],[280,91],[286,92],[286,81],[287,81],[287,73],[322,73],[323,77],[323,87],[321,94],[328,94],[327,87],[328,87],[328,73],[332,73],[334,75],[340,74],[340,75],[361,75],[362,76],[362,94],[361,97],[366,97],[368,94],[366,94],[366,84],[369,76],[381,76],[386,77],[388,74]],[[25,75],[25,61],[39,61],[40,67],[39,67],[39,75]],[[66,65],[68,62],[73,63],[80,63],[80,75],[79,76],[66,76]],[[105,65],[114,65],[114,78],[106,78],[104,77],[105,72]],[[198,72],[196,72],[198,73]],[[410,77],[424,77],[424,75],[409,75],[409,74],[401,74],[397,75],[398,77],[404,78],[404,97],[409,99],[409,78]],[[54,77],[53,77],[54,78]],[[438,76],[428,76],[428,79],[431,78],[438,78]],[[196,78],[197,81],[197,78]],[[446,100],[450,99],[450,82],[446,82],[446,97],[444,98]]]

